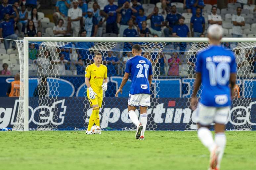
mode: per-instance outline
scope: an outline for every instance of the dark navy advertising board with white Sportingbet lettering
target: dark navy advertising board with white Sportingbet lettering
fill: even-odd
[[[85,109],[85,105],[88,106],[85,97],[38,99],[29,98],[29,128],[53,127],[58,130],[74,130],[87,127],[92,109]],[[105,104],[100,109],[101,128],[121,130],[132,127],[127,112],[127,100],[126,97],[104,97]],[[18,98],[0,97],[0,128],[13,127],[17,123],[19,102]],[[51,103],[51,105],[39,105],[39,103]],[[149,129],[196,129],[197,117],[195,112],[188,108],[187,98],[154,99],[147,113]],[[139,115],[138,110],[136,114]],[[241,128],[256,130],[256,98],[234,102],[226,127],[228,130]]]

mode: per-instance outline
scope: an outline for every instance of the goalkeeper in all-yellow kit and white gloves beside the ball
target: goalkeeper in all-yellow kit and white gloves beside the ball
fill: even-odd
[[[96,52],[93,57],[94,63],[88,65],[85,70],[85,84],[87,86],[87,98],[93,108],[89,119],[86,134],[92,134],[91,128],[94,123],[100,126],[99,111],[103,100],[103,91],[107,90],[107,67],[102,62],[102,54]]]

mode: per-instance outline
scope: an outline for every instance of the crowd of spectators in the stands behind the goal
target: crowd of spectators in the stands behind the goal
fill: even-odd
[[[90,1],[93,1],[90,2]],[[225,34],[232,37],[243,37],[246,25],[243,7],[246,0],[237,0],[240,6],[235,7],[231,18],[223,18],[216,5],[206,9],[203,0],[160,0],[151,8],[145,8],[142,0],[58,0],[53,13],[54,26],[52,35],[55,37],[205,37],[208,25],[219,24],[226,29]],[[177,2],[177,5],[173,4]],[[91,5],[89,5],[91,3]],[[159,5],[160,3],[160,5]],[[183,7],[179,6],[183,3]],[[88,7],[90,6],[90,7]],[[256,8],[253,10],[256,11]],[[38,13],[37,0],[2,0],[0,5],[0,38],[6,51],[10,48],[10,40],[22,36],[42,36],[43,22]],[[230,20],[229,20],[230,19]],[[225,23],[231,27],[226,28]],[[228,31],[228,33],[226,33]],[[43,32],[43,33],[42,33]],[[127,43],[132,45],[132,43]],[[176,48],[186,50],[186,43],[174,44]],[[230,46],[230,44],[225,44]],[[13,41],[12,47],[16,49]],[[43,52],[42,52],[43,51]],[[238,56],[239,74],[256,73],[255,52],[248,50],[235,51]],[[42,74],[76,74],[83,75],[85,67],[92,63],[93,51],[82,49],[72,50],[61,48],[47,51],[39,45],[29,45],[29,59],[36,64]],[[188,68],[187,74],[194,75],[195,54],[184,52],[143,53],[153,66],[154,75],[180,76],[183,67]],[[130,52],[103,53],[104,64],[109,75],[122,75],[123,68]],[[3,64],[2,74],[9,74],[8,64]],[[44,71],[45,70],[45,71]],[[48,71],[46,71],[48,70]],[[52,72],[51,72],[52,70]],[[59,70],[58,72],[54,70]],[[185,69],[184,69],[185,70]],[[182,70],[182,71],[184,71]],[[244,71],[245,70],[245,71]],[[247,70],[247,72],[246,72]],[[9,72],[8,72],[9,71]]]

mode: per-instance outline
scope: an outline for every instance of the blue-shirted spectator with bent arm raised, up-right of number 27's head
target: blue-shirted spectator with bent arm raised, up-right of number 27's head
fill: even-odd
[[[153,35],[157,35],[158,37],[161,37],[161,27],[165,26],[165,23],[163,16],[158,14],[157,7],[154,8],[154,11],[151,14],[149,14],[147,19],[150,19],[151,21],[151,28],[149,28],[150,33]]]

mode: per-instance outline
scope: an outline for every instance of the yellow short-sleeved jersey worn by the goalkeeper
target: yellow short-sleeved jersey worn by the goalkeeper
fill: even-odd
[[[90,85],[98,96],[103,95],[102,84],[103,79],[107,79],[107,67],[103,64],[97,67],[95,63],[90,64],[85,69],[85,77],[90,78]],[[89,89],[87,88],[87,94],[89,94]]]

